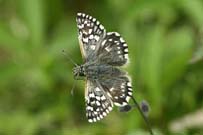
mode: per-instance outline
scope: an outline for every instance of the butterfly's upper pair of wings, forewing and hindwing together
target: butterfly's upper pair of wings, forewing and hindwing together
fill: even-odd
[[[90,15],[77,14],[80,49],[85,61],[122,66],[128,61],[128,46],[117,32],[108,32]]]

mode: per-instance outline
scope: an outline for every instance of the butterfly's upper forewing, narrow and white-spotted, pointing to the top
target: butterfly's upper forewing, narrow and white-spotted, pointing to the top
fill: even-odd
[[[80,49],[85,61],[94,60],[95,52],[106,35],[104,26],[92,16],[78,13],[77,18],[78,39]]]

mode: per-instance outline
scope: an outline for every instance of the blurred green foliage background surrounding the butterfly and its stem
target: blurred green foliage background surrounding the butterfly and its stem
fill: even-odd
[[[0,134],[147,135],[139,112],[85,117],[76,14],[118,31],[130,50],[134,96],[150,104],[156,134],[203,134],[202,0],[0,0]]]

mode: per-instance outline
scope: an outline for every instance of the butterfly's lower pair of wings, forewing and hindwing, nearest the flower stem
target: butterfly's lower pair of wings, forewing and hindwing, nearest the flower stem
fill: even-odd
[[[128,105],[132,96],[132,86],[126,75],[87,80],[86,85],[86,116],[89,122],[104,118],[114,105]]]

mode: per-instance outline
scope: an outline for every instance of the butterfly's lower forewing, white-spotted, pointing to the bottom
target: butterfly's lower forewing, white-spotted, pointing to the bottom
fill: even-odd
[[[113,108],[113,102],[96,81],[87,80],[85,90],[86,116],[89,122],[104,118]]]

